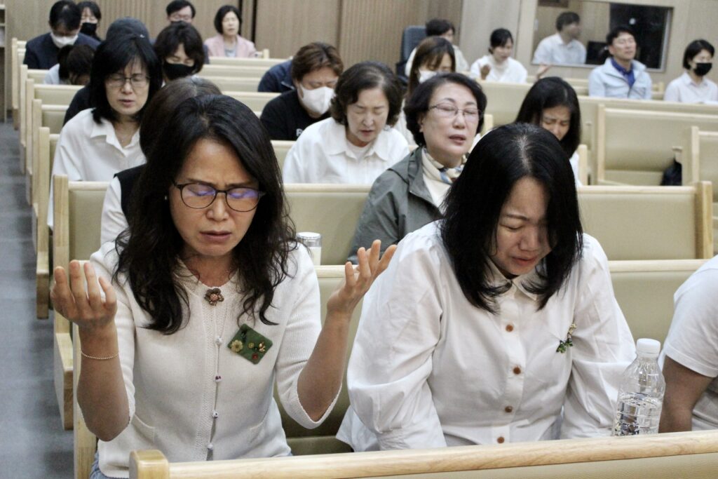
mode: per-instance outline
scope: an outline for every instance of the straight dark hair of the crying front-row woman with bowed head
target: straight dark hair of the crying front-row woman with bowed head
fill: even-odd
[[[449,190],[441,227],[464,296],[488,312],[497,311],[495,298],[505,292],[505,287],[489,283],[501,208],[523,177],[540,182],[549,195],[546,220],[551,252],[536,269],[538,283],[524,285],[541,297],[539,310],[567,279],[583,249],[574,175],[556,137],[540,126],[523,123],[490,131]]]

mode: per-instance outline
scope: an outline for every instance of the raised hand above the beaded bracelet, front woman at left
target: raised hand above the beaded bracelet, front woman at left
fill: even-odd
[[[55,284],[50,289],[50,299],[55,311],[84,330],[100,330],[113,324],[117,312],[117,298],[112,285],[105,278],[100,278],[98,282],[93,266],[85,263],[85,291],[80,262],[70,261],[68,269],[69,278],[62,266],[57,266],[53,271]],[[104,299],[100,287],[105,293]]]

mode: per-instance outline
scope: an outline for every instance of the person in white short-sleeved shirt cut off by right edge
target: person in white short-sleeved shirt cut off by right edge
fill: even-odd
[[[673,296],[671,330],[661,353],[666,396],[660,432],[718,429],[718,256]]]

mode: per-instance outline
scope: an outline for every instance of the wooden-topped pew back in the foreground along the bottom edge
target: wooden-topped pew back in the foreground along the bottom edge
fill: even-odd
[[[205,462],[143,450],[130,454],[130,478],[713,478],[717,460],[718,432],[696,431]]]

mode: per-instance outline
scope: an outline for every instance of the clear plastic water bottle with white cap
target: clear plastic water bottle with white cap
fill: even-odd
[[[661,342],[642,338],[636,344],[638,357],[621,376],[613,422],[614,436],[658,433],[666,381],[658,366]]]

